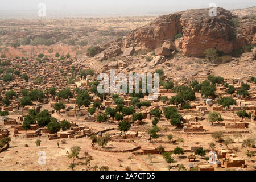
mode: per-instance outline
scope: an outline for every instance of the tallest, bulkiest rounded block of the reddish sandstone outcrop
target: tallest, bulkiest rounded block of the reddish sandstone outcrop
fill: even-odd
[[[217,8],[217,16],[209,16],[210,9],[185,11],[180,18],[183,26],[183,53],[191,56],[204,56],[206,49],[213,48],[224,53],[233,50],[234,27],[230,22],[234,15]]]

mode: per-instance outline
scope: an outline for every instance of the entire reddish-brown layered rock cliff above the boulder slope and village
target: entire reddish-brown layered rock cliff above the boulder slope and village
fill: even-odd
[[[204,56],[206,49],[213,48],[230,53],[234,48],[255,42],[255,24],[241,24],[236,30],[232,23],[237,18],[228,10],[217,8],[217,16],[209,16],[210,9],[192,9],[160,16],[154,22],[133,30],[127,35],[123,47],[136,43],[143,49],[152,51],[164,40],[174,41],[178,32],[183,33],[182,49],[185,55]],[[241,32],[239,35],[236,34]]]

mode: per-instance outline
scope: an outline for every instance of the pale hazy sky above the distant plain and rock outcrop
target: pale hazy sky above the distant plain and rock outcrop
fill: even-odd
[[[0,0],[1,15],[37,14],[38,4],[45,3],[49,14],[136,15],[172,13],[174,11],[208,7],[215,3],[225,9],[256,6],[255,0]],[[5,13],[5,14],[4,14]]]

